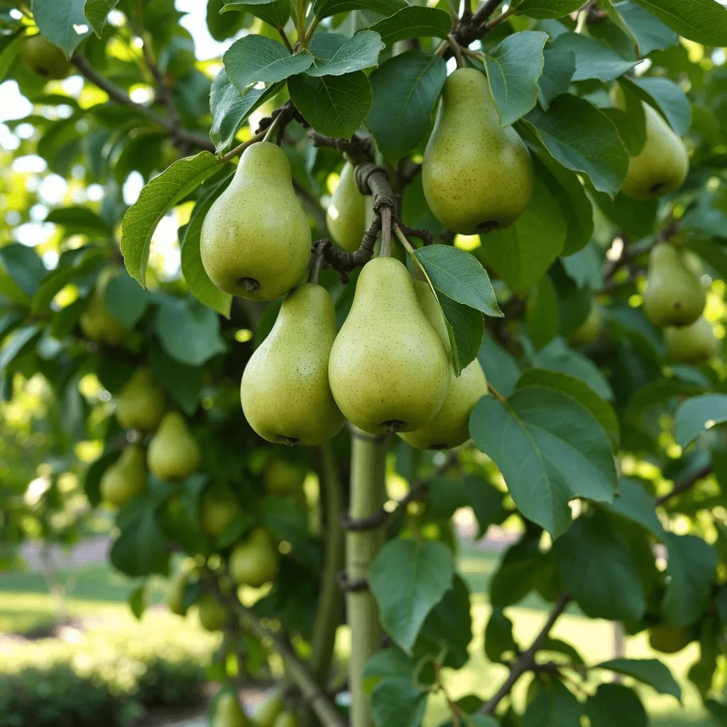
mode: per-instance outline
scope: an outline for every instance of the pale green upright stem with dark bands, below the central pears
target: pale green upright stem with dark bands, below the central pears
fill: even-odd
[[[351,443],[351,520],[376,513],[385,502],[387,438],[354,430]],[[384,543],[384,529],[351,530],[346,539],[346,574],[350,585],[369,577],[371,562]],[[379,651],[379,612],[369,590],[349,590],[346,599],[351,631],[351,724],[372,727],[369,700],[364,694],[364,664]]]

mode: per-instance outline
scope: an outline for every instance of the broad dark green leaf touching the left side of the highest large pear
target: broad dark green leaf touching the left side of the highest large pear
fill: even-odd
[[[366,126],[387,159],[398,161],[425,139],[446,76],[443,58],[419,49],[392,57],[371,73]]]

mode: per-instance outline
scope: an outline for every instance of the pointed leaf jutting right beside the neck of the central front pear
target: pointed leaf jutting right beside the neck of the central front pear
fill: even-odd
[[[469,252],[449,245],[429,245],[416,254],[437,290],[486,316],[502,318],[487,271]]]

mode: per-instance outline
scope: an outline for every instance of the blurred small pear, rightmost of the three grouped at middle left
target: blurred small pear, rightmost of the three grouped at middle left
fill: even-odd
[[[147,462],[151,473],[160,480],[184,480],[197,469],[201,451],[187,423],[177,411],[161,420],[151,438]]]

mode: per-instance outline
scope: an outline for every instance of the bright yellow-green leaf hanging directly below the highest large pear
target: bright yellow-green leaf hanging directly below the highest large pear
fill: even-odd
[[[566,220],[553,193],[534,177],[530,204],[515,224],[481,235],[476,251],[497,277],[522,291],[542,278],[566,243]]]

